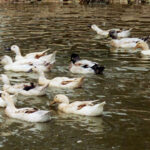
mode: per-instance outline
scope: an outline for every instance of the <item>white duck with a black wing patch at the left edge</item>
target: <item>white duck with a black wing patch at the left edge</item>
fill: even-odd
[[[1,74],[0,80],[2,80],[4,84],[3,90],[11,94],[22,94],[25,96],[41,96],[46,94],[46,89],[48,87],[48,84],[44,86],[38,86],[34,85],[34,83],[20,83],[11,85],[7,75],[5,74]]]

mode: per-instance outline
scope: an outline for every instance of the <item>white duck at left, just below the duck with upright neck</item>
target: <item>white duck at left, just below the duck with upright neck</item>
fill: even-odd
[[[14,72],[28,72],[32,69],[33,65],[36,64],[21,64],[21,63],[14,63],[10,56],[3,56],[1,58],[1,64],[4,65],[4,69],[7,71],[14,71]],[[37,65],[42,71],[50,71],[52,68],[52,64],[46,65]]]

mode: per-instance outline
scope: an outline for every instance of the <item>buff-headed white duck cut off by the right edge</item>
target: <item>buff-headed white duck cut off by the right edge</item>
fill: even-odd
[[[150,56],[150,49],[149,49],[149,46],[146,42],[143,42],[143,41],[140,41],[140,42],[137,42],[136,44],[136,48],[141,48],[142,51],[140,51],[140,54],[142,57],[149,57]]]

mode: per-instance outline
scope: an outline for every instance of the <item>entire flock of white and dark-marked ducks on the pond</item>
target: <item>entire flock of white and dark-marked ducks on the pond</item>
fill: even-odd
[[[147,38],[128,38],[130,36],[129,30],[110,29],[102,30],[97,25],[92,25],[91,28],[97,34],[103,37],[111,37],[110,45],[116,48],[141,48],[141,56],[150,56],[150,49],[146,41]],[[17,101],[16,95],[21,94],[24,96],[41,96],[46,94],[48,87],[62,88],[62,89],[75,89],[82,86],[84,77],[68,78],[68,77],[55,77],[47,79],[45,72],[50,71],[55,63],[56,51],[48,54],[50,49],[42,52],[29,53],[22,56],[20,48],[17,45],[12,45],[7,50],[16,54],[13,61],[10,56],[3,56],[0,60],[4,66],[4,70],[14,72],[37,72],[38,83],[20,83],[11,85],[7,75],[1,74],[0,80],[3,82],[3,91],[0,92],[0,107],[5,108],[5,114],[8,117],[16,118],[28,122],[47,122],[51,119],[49,110],[39,110],[37,108],[16,108]],[[78,54],[71,55],[71,63],[69,70],[76,74],[101,74],[105,67],[100,66],[96,62],[89,60],[81,60]],[[12,94],[12,95],[11,95]],[[54,100],[50,102],[50,106],[58,104],[58,110],[64,113],[72,113],[77,115],[86,116],[99,116],[103,112],[105,102],[99,103],[98,100],[94,101],[75,101],[69,103],[69,98],[66,95],[58,94]]]

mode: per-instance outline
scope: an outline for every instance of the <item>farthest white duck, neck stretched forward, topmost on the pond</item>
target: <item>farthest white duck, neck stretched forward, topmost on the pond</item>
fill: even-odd
[[[115,37],[115,38],[125,38],[130,36],[130,32],[132,29],[129,30],[121,30],[121,29],[110,29],[110,30],[102,30],[97,25],[93,24],[91,28],[96,31],[97,34],[105,37]]]

